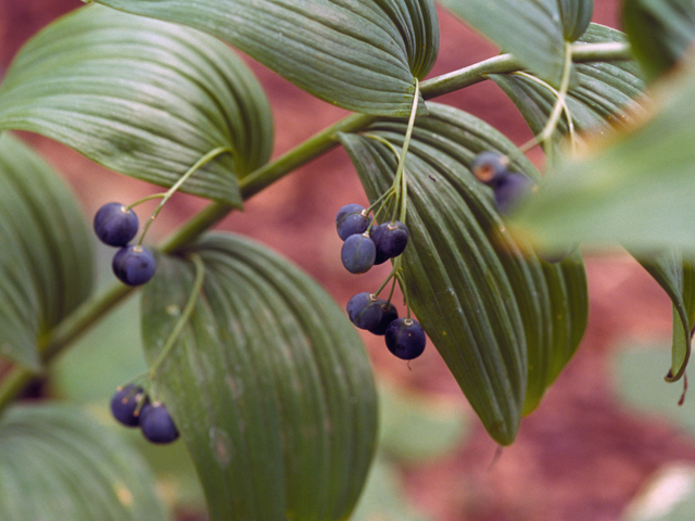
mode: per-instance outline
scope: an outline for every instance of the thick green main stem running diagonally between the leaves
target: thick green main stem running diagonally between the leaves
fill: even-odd
[[[630,48],[627,43],[584,43],[572,46],[574,62],[621,61],[629,60]],[[502,54],[480,63],[422,81],[420,93],[424,99],[432,99],[465,87],[483,81],[489,74],[513,73],[522,67],[510,55]],[[353,114],[300,143],[294,149],[268,163],[239,181],[241,195],[249,200],[264,188],[274,183],[295,168],[338,147],[336,134],[354,132],[368,127],[380,116]],[[202,212],[184,224],[176,232],[165,239],[159,250],[175,252],[197,239],[201,233],[225,218],[232,206],[211,203]],[[48,364],[66,346],[77,340],[91,326],[96,325],[109,310],[123,302],[134,288],[114,283],[105,291],[91,296],[58,325],[39,345],[43,361]],[[409,309],[408,309],[409,316]],[[0,381],[0,412],[12,403],[37,374],[14,366]]]

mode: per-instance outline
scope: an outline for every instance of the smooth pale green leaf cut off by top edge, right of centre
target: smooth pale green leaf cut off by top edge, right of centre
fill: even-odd
[[[440,0],[440,3],[514,54],[541,79],[559,86],[566,40],[558,0]],[[582,5],[582,17],[586,9]],[[569,18],[567,23],[573,25]]]

